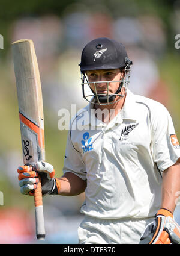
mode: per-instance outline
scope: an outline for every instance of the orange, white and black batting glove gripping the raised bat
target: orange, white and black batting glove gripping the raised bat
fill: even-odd
[[[17,169],[19,173],[20,192],[24,195],[34,195],[34,190],[37,189],[39,182],[38,174],[41,177],[42,194],[57,195],[60,190],[60,183],[53,178],[55,170],[49,163],[39,161],[37,163],[29,163],[25,166],[19,166]]]

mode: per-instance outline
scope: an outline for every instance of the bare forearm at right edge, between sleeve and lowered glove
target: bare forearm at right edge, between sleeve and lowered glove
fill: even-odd
[[[161,208],[173,211],[180,192],[180,163],[179,161],[163,172]]]

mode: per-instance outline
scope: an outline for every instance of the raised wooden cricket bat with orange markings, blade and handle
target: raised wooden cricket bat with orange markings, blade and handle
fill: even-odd
[[[44,161],[43,98],[34,43],[30,39],[22,39],[12,43],[12,48],[19,105],[23,163]],[[34,191],[34,203],[37,239],[44,240],[45,229],[41,181]]]

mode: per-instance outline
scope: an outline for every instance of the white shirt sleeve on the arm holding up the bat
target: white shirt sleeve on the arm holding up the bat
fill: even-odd
[[[86,168],[82,155],[77,151],[71,142],[70,131],[68,131],[67,146],[65,150],[63,173],[72,172],[82,180],[86,180]]]

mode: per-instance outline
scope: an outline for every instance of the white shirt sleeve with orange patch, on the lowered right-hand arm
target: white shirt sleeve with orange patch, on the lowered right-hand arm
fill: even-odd
[[[153,112],[151,116],[151,151],[154,162],[163,172],[180,158],[180,147],[172,118],[164,105],[157,105]]]

